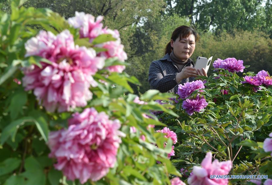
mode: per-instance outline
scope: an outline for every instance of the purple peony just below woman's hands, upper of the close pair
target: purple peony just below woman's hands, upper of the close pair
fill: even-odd
[[[177,94],[182,98],[189,97],[195,90],[204,89],[204,83],[201,80],[186,82],[184,85],[179,84]]]

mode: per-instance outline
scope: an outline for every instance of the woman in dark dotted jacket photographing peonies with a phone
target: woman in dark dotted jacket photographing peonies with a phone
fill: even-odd
[[[207,76],[204,68],[196,70],[190,59],[196,41],[198,34],[193,28],[180,26],[174,30],[165,47],[165,56],[150,64],[148,81],[151,89],[176,93],[180,83],[191,82],[198,75]]]

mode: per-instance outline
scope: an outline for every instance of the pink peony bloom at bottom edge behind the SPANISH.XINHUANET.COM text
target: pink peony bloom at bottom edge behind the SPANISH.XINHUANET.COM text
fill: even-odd
[[[228,179],[210,179],[210,175],[228,175],[232,168],[231,161],[219,162],[215,159],[211,162],[211,152],[206,154],[201,166],[194,166],[193,173],[188,178],[188,184],[190,185],[228,185]]]

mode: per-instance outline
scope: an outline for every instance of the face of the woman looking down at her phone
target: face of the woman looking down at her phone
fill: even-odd
[[[193,34],[189,35],[187,38],[179,37],[173,41],[171,39],[171,46],[174,48],[174,54],[180,60],[187,60],[192,56],[195,50],[195,36]]]

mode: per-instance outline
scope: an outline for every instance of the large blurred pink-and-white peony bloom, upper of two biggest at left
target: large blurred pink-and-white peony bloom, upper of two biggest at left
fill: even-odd
[[[25,44],[25,56],[38,55],[52,63],[41,62],[42,68],[32,65],[24,69],[23,86],[34,90],[41,105],[49,112],[86,106],[92,99],[90,86],[97,86],[92,75],[104,66],[104,59],[96,57],[93,49],[74,45],[68,30],[55,36],[40,31]]]

